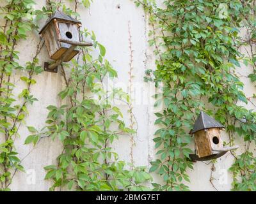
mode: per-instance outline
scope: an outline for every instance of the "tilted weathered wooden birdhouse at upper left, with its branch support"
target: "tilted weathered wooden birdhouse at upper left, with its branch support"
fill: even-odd
[[[47,20],[39,34],[44,38],[50,58],[56,62],[51,65],[45,62],[45,71],[56,72],[56,68],[61,62],[68,62],[77,55],[79,52],[75,49],[77,46],[93,45],[80,41],[80,26],[81,22],[61,11],[56,11]]]

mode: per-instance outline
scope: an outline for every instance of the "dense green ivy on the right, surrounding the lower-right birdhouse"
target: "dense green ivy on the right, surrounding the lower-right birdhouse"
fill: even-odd
[[[232,189],[255,191],[256,159],[250,145],[255,143],[256,113],[243,106],[250,98],[244,95],[244,85],[235,70],[243,63],[248,68],[255,66],[252,39],[244,41],[239,32],[245,26],[249,36],[255,36],[255,1],[135,3],[148,13],[152,25],[149,43],[157,57],[156,69],[148,69],[145,80],[154,81],[156,86],[164,84],[163,99],[156,103],[164,103],[155,122],[161,127],[154,138],[159,159],[152,161],[150,168],[163,177],[164,184],[153,183],[154,190],[188,190],[184,184],[189,181],[186,170],[193,168],[189,130],[196,115],[204,110],[225,124],[229,138],[225,145],[233,145],[239,136],[246,145],[243,154],[232,152]],[[248,43],[251,57],[239,52]],[[254,69],[248,77],[255,78]]]

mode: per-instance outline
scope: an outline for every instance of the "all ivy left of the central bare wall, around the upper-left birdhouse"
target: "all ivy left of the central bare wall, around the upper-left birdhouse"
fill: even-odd
[[[20,40],[27,40],[28,31],[37,31],[37,20],[49,17],[60,8],[68,15],[79,17],[78,6],[83,4],[88,8],[92,1],[73,3],[74,11],[62,1],[47,1],[42,10],[35,10],[35,2],[32,0],[6,1],[0,7],[0,14],[4,19],[0,28],[1,191],[10,190],[17,171],[25,171],[14,142],[19,137],[20,124],[25,122],[29,113],[28,105],[33,105],[37,100],[31,95],[31,85],[36,83],[33,76],[42,72],[37,58],[44,45],[42,38],[38,39],[33,59],[26,66],[19,64],[17,44]],[[61,66],[60,72],[66,88],[59,95],[65,105],[48,106],[48,126],[40,131],[28,126],[28,131],[32,134],[26,138],[25,144],[36,145],[48,137],[58,138],[62,142],[63,151],[57,158],[57,164],[45,166],[45,179],[52,180],[52,191],[56,187],[77,191],[147,190],[142,185],[151,180],[146,168],[120,161],[118,154],[111,148],[111,143],[119,136],[134,134],[134,130],[125,126],[119,108],[112,105],[115,99],[129,104],[129,96],[120,89],[105,89],[104,81],[117,77],[117,74],[105,59],[106,48],[96,40],[95,34],[86,29],[81,31],[81,39],[89,36],[94,47],[81,48],[72,64]],[[95,57],[97,53],[98,56]],[[24,82],[26,88],[19,96],[13,94],[15,83],[12,81],[15,82],[15,73],[24,74],[20,81]]]

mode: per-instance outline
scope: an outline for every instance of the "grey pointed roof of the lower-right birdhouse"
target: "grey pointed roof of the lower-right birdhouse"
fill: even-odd
[[[196,119],[194,128],[191,131],[191,133],[195,133],[202,129],[208,129],[208,128],[224,128],[224,126],[221,125],[216,120],[214,120],[209,115],[207,115],[205,112],[200,112],[200,114],[198,115],[198,117]]]

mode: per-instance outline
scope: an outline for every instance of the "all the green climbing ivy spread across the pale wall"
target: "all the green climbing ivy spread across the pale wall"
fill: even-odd
[[[25,65],[19,64],[17,45],[26,40],[28,31],[38,27],[35,20],[46,18],[61,9],[68,15],[79,18],[77,8],[88,8],[93,1],[70,1],[74,10],[60,1],[48,1],[42,10],[35,10],[32,0],[6,0],[0,7],[0,190],[9,191],[17,171],[24,171],[22,158],[18,156],[15,140],[19,128],[28,115],[29,105],[36,98],[31,95],[33,78],[42,72],[38,54],[44,41],[38,38],[36,52]],[[204,110],[225,124],[228,142],[244,140],[245,150],[234,156],[230,168],[233,173],[234,191],[256,190],[255,145],[256,114],[244,108],[253,104],[253,96],[245,96],[239,77],[248,77],[255,82],[255,1],[188,1],[166,0],[160,6],[154,0],[135,1],[148,13],[152,26],[150,45],[156,54],[156,69],[148,69],[145,80],[163,82],[164,109],[157,112],[154,138],[157,156],[152,161],[151,172],[163,178],[163,183],[152,183],[157,191],[189,190],[186,182],[191,135],[196,115]],[[239,31],[246,31],[242,38]],[[58,139],[63,151],[57,164],[45,166],[45,179],[52,180],[51,190],[56,188],[77,191],[143,191],[148,188],[143,182],[152,180],[145,167],[136,167],[118,159],[111,143],[123,135],[134,135],[134,130],[125,126],[122,112],[112,105],[115,99],[130,103],[129,96],[120,89],[108,90],[106,80],[117,77],[105,58],[106,49],[93,32],[81,31],[81,39],[91,38],[93,48],[80,48],[72,64],[60,68],[65,89],[59,96],[62,106],[48,106],[47,126],[40,131],[28,126],[31,135],[25,143],[38,143],[43,138]],[[245,48],[242,55],[239,48]],[[252,68],[248,76],[239,76],[237,68]],[[15,74],[25,88],[16,96]],[[156,96],[157,98],[157,96]],[[213,162],[213,164],[215,161]]]

